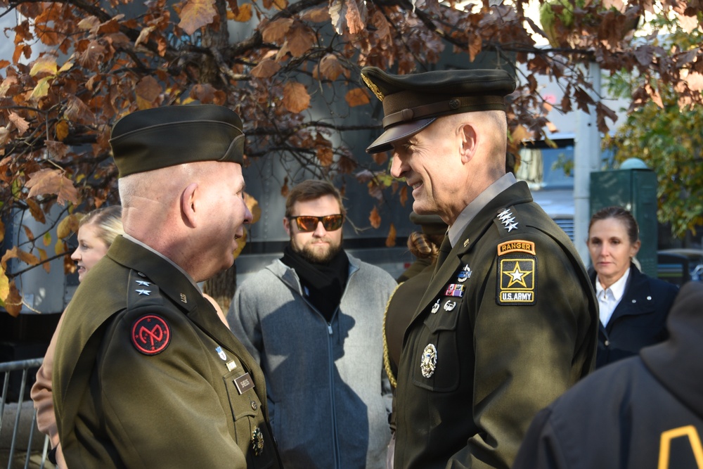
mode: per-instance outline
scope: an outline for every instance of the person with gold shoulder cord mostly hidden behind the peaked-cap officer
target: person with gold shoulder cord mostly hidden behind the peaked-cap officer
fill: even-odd
[[[398,363],[403,348],[403,336],[415,309],[425,295],[430,278],[437,264],[439,246],[444,240],[447,225],[439,215],[418,215],[411,212],[410,221],[419,225],[422,231],[413,231],[408,236],[408,249],[417,258],[406,271],[397,278],[398,288],[394,291],[383,316],[383,365],[393,390],[396,387]],[[395,392],[393,395],[395,407]],[[394,409],[395,410],[395,409]],[[395,447],[395,419],[389,418],[391,442],[388,445],[387,469],[393,468]]]

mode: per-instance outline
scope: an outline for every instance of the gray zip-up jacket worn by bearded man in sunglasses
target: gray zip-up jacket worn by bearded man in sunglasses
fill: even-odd
[[[286,469],[385,468],[391,391],[382,319],[396,282],[347,255],[349,280],[330,323],[280,260],[238,287],[227,314],[264,370]]]

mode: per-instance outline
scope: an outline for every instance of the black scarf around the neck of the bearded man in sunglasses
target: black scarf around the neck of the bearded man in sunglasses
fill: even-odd
[[[303,287],[303,295],[327,322],[332,321],[342,302],[342,293],[349,278],[349,257],[340,250],[328,264],[313,264],[290,248],[283,248],[280,262],[294,269]]]

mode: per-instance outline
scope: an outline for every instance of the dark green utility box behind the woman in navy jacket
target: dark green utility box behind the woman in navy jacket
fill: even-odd
[[[657,174],[644,165],[591,173],[591,215],[611,205],[632,212],[642,241],[637,260],[644,274],[657,278]]]

